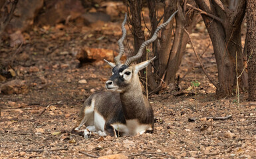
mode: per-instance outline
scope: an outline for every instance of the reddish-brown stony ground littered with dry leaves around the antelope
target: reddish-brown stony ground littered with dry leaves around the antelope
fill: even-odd
[[[241,94],[239,106],[235,97],[217,99],[215,87],[189,44],[178,72],[181,77],[189,73],[180,83],[181,91],[166,89],[149,97],[156,121],[154,133],[88,139],[71,134],[84,99],[105,91],[104,83],[111,74],[103,62],[78,68],[76,49],[88,46],[118,51],[121,23],[120,19],[91,27],[72,23],[34,27],[24,33],[26,44],[17,48],[1,44],[2,66],[16,72],[7,81],[21,79],[28,87],[26,93],[0,95],[0,158],[91,158],[80,152],[95,157],[120,153],[129,158],[256,158],[256,105],[246,102],[246,93]],[[207,47],[210,40],[203,23],[197,25],[192,40],[207,73],[217,81],[213,49]],[[196,89],[190,87],[192,81],[200,83]],[[207,119],[229,115],[225,120]]]

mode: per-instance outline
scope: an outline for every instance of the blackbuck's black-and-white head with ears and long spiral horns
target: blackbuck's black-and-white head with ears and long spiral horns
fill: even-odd
[[[150,60],[141,62],[140,64],[133,64],[133,63],[142,57],[142,53],[144,52],[144,49],[146,48],[146,46],[148,46],[149,44],[151,44],[156,40],[158,36],[158,32],[162,28],[166,27],[168,23],[170,23],[170,21],[172,21],[172,18],[174,17],[174,15],[176,15],[177,12],[178,11],[176,11],[166,21],[166,23],[163,23],[162,25],[158,26],[158,28],[156,28],[156,31],[154,32],[152,38],[142,43],[142,45],[140,46],[140,49],[138,50],[138,53],[135,56],[128,58],[126,62],[122,64],[120,62],[120,58],[124,54],[124,44],[122,43],[124,41],[124,38],[126,37],[126,29],[124,25],[126,23],[127,14],[125,15],[124,21],[122,23],[122,37],[118,40],[119,54],[114,58],[115,63],[108,62],[107,60],[104,59],[104,61],[107,62],[112,67],[112,76],[110,77],[110,79],[108,79],[108,81],[106,81],[106,88],[108,90],[124,93],[128,89],[132,89],[132,87],[137,87],[137,88],[140,87],[138,72],[146,68],[146,66],[148,66],[148,64],[150,64],[150,62],[152,62],[156,57]]]

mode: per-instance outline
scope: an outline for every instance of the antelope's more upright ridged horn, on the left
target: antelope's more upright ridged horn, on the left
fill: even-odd
[[[126,20],[127,13],[125,13],[124,21],[122,22],[122,37],[118,40],[119,54],[114,58],[114,62],[116,63],[116,65],[121,64],[120,58],[124,54],[124,44],[122,44],[122,42],[124,42],[124,38],[126,37],[126,29],[124,27],[124,25],[126,24]]]

